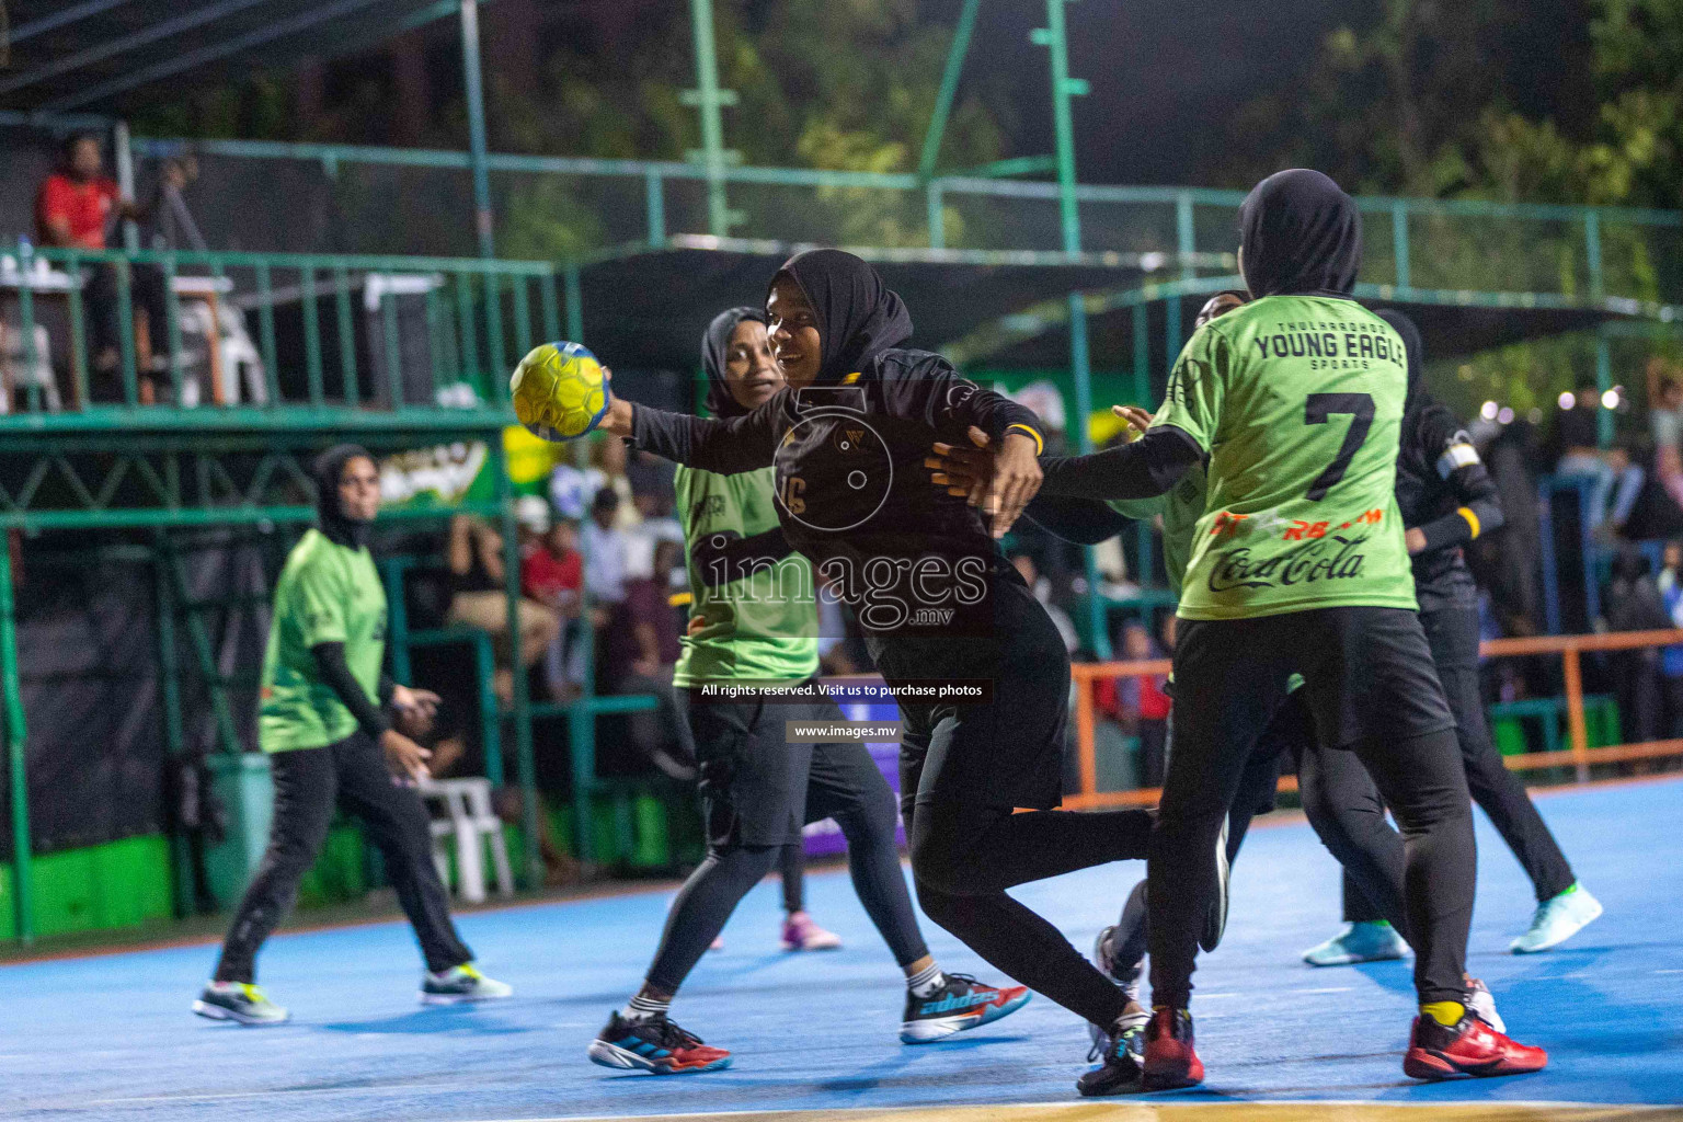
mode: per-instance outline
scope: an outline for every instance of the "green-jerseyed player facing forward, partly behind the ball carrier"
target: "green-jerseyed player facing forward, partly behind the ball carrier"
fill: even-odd
[[[709,409],[741,417],[783,389],[766,316],[719,315],[702,338]],[[673,683],[700,760],[707,858],[666,917],[641,989],[591,1041],[592,1061],[653,1073],[709,1072],[730,1053],[678,1028],[668,1009],[742,897],[776,865],[801,826],[833,818],[848,841],[853,890],[905,972],[900,1040],[941,1040],[1027,1004],[1023,986],[995,987],[944,974],[917,929],[887,779],[863,744],[788,744],[786,722],[843,720],[818,673],[818,606],[811,564],[784,540],[772,468],[719,474],[678,468],[678,515],[695,606]],[[794,686],[796,701],[714,698],[710,688]],[[825,1014],[833,1014],[831,1009]]]

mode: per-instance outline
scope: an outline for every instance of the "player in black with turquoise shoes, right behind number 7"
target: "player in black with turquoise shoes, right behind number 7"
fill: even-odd
[[[1601,915],[1601,902],[1577,883],[1572,866],[1525,784],[1510,772],[1491,742],[1484,722],[1484,700],[1478,685],[1478,587],[1461,547],[1489,533],[1503,521],[1496,486],[1461,421],[1431,395],[1424,380],[1426,348],[1420,330],[1402,313],[1382,311],[1409,352],[1409,397],[1402,415],[1402,453],[1397,458],[1397,506],[1409,527],[1405,542],[1414,557],[1414,594],[1420,601],[1420,624],[1432,649],[1437,680],[1456,717],[1456,738],[1466,764],[1468,789],[1484,809],[1501,839],[1532,878],[1537,912],[1530,929],[1513,940],[1515,954],[1548,950]],[[1390,876],[1400,878],[1402,843],[1385,823],[1378,792],[1360,769],[1338,775],[1311,777],[1330,784],[1326,797],[1343,806],[1365,806],[1368,814],[1353,823],[1368,838],[1340,844],[1395,849]],[[1306,796],[1308,797],[1308,796]],[[1330,843],[1333,844],[1333,843]],[[1400,940],[1383,912],[1345,873],[1345,922],[1348,927],[1304,952],[1314,966],[1343,966],[1402,955]]]

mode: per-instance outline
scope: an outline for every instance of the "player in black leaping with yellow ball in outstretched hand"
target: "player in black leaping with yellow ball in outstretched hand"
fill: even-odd
[[[853,254],[791,257],[767,315],[788,385],[764,405],[703,421],[614,400],[603,427],[705,471],[776,466],[789,545],[855,602],[887,683],[988,683],[981,701],[900,698],[900,809],[919,902],[983,959],[1106,1033],[1143,1023],[1139,1006],[1005,892],[1141,858],[1153,821],[1049,809],[1062,787],[1069,656],[996,543],[1038,488],[1038,419],[905,348],[900,298]],[[922,469],[931,442],[964,439],[969,426],[1001,449],[991,527],[964,498],[929,488]]]

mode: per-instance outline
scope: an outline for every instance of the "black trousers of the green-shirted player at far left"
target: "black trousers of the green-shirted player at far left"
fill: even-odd
[[[219,982],[256,981],[257,949],[286,918],[298,881],[315,863],[333,821],[333,806],[362,819],[385,858],[385,875],[414,927],[429,971],[473,961],[449,922],[449,893],[433,866],[433,831],[414,787],[399,786],[385,754],[357,732],[325,749],[269,755],[274,774],[274,824],[269,848],[246,888],[215,967]]]

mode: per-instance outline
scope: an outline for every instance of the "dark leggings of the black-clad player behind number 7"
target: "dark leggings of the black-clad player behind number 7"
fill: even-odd
[[[1525,784],[1501,762],[1501,752],[1491,742],[1484,722],[1484,698],[1478,685],[1478,609],[1442,607],[1420,612],[1420,626],[1426,629],[1426,643],[1432,649],[1437,680],[1442,683],[1449,710],[1456,717],[1456,740],[1461,744],[1461,762],[1466,765],[1468,791],[1473,801],[1484,809],[1496,833],[1525,868],[1525,875],[1532,878],[1537,900],[1543,902],[1560,895],[1577,880],[1572,865],[1560,851],[1553,834],[1548,833],[1548,826],[1537,812]],[[1373,784],[1363,782],[1363,779],[1365,774],[1350,777],[1345,784],[1345,797],[1360,807],[1360,814],[1372,818],[1372,802],[1378,794],[1373,791]],[[1308,812],[1308,796],[1304,796],[1304,809]],[[1378,824],[1385,826],[1383,811],[1380,811]],[[1372,824],[1365,823],[1356,829],[1370,831]],[[1385,833],[1392,833],[1388,826],[1385,826]],[[1377,844],[1373,839],[1370,843]],[[1383,848],[1400,851],[1397,844]],[[1394,880],[1394,876],[1387,876],[1387,883]],[[1358,924],[1390,918],[1388,908],[1368,895],[1363,883],[1350,873],[1346,865],[1345,920]]]

